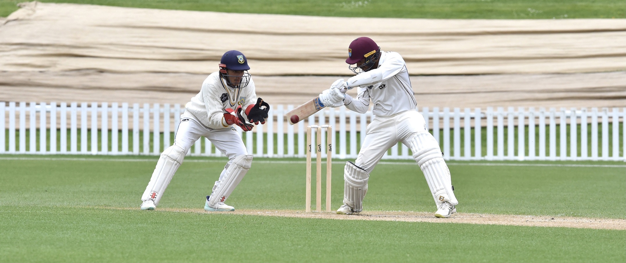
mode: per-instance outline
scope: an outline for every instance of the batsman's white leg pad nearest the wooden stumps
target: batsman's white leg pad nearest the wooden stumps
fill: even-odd
[[[363,211],[363,198],[367,194],[369,174],[352,162],[346,162],[344,168],[344,203],[354,209]]]

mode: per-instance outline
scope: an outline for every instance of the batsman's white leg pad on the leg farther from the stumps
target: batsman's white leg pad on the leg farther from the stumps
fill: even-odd
[[[411,138],[413,159],[422,169],[436,204],[448,201],[458,204],[452,189],[450,170],[443,160],[439,144],[429,132],[418,132]]]

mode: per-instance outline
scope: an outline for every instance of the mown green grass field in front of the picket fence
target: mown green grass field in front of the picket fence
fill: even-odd
[[[158,208],[202,209],[224,163],[187,157]],[[626,231],[618,230],[140,211],[155,164],[145,156],[0,156],[0,262],[626,261]],[[624,162],[449,164],[458,212],[626,219]],[[342,168],[336,161],[334,209]],[[227,203],[304,210],[304,162],[255,158]],[[413,162],[379,164],[364,208],[434,212]]]

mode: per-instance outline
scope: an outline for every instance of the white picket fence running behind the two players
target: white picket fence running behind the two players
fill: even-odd
[[[290,126],[285,113],[293,107],[272,106],[267,123],[253,131],[243,132],[237,127],[250,154],[304,157],[305,125],[329,124],[336,130],[334,156],[356,158],[365,139],[361,135],[373,117],[371,112],[324,109]],[[5,138],[0,140],[0,154],[158,155],[171,145],[183,111],[179,104],[0,102],[0,138]],[[488,107],[463,111],[424,107],[420,112],[446,160],[626,161],[626,107]],[[223,156],[204,138],[188,155]],[[413,157],[410,149],[399,143],[383,158]]]

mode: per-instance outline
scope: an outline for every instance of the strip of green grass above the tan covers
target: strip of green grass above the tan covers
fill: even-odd
[[[0,0],[0,16],[15,11],[23,0]],[[563,19],[624,18],[622,0],[41,0],[106,6],[146,7],[308,16]]]

